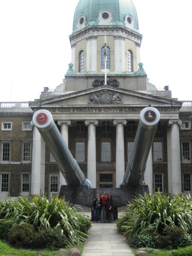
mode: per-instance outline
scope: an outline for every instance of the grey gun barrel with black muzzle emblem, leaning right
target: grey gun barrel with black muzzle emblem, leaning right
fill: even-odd
[[[160,113],[156,108],[147,107],[141,111],[132,153],[130,160],[128,160],[122,185],[127,184],[136,187],[141,184],[159,120]]]

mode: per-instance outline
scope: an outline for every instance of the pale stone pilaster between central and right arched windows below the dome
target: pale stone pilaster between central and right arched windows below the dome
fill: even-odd
[[[115,71],[125,71],[125,36],[114,36]]]

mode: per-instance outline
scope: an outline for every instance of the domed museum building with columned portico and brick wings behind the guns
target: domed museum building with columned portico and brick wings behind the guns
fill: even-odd
[[[33,102],[0,103],[0,198],[58,194],[66,184],[33,125],[37,110],[52,114],[93,188],[115,188],[148,105],[160,112],[144,174],[150,193],[192,192],[192,101],[178,101],[168,86],[149,82],[132,0],[80,0],[69,40],[72,57],[62,84],[44,87]]]

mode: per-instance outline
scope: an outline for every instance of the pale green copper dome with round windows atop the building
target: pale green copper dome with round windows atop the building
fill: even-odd
[[[73,20],[73,32],[86,27],[97,25],[132,24],[138,30],[136,8],[132,0],[80,0]]]

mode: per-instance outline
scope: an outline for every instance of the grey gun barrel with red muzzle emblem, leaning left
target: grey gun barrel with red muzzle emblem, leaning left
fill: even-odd
[[[85,185],[92,188],[64,142],[51,113],[47,110],[38,110],[32,120],[54,156],[66,183],[71,187]]]

